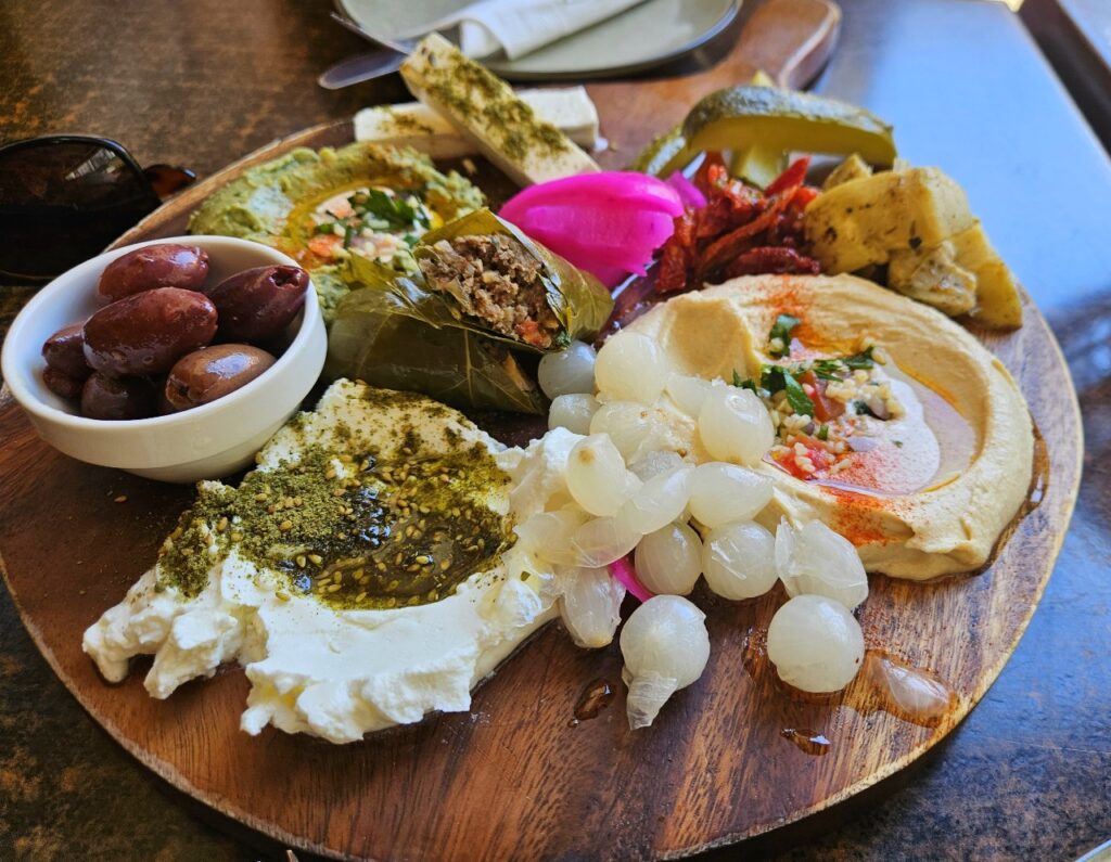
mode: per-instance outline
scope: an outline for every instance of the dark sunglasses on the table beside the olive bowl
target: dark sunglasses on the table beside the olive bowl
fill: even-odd
[[[51,134],[3,144],[0,278],[49,281],[196,179],[186,168],[141,168],[109,138]]]

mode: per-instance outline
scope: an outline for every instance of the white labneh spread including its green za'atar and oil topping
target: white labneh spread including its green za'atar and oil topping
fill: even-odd
[[[340,380],[238,488],[203,482],[158,562],[84,633],[109,681],[152,654],[152,696],[241,663],[241,726],[330,742],[470,708],[557,610],[553,573],[513,547],[542,501],[460,413]]]

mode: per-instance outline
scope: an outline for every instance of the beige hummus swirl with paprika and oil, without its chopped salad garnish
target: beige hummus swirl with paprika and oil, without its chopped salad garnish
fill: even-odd
[[[790,345],[770,348],[784,314],[798,320]],[[880,398],[874,412],[882,420],[864,409],[830,423],[851,420],[843,454],[802,447],[795,461],[801,444],[782,444],[792,419],[784,417],[778,445],[754,468],[774,483],[758,519],[763,525],[774,530],[781,517],[793,525],[820,519],[852,541],[869,571],[912,580],[972,571],[987,562],[1027,494],[1033,433],[1007,369],[935,310],[871,282],[740,278],[677,297],[630,329],[651,337],[673,371],[737,383],[759,381],[769,365],[874,350],[867,373],[853,373]],[[850,383],[852,375],[835,381]],[[810,439],[829,431],[809,424]],[[689,422],[672,427],[697,460],[707,460]]]

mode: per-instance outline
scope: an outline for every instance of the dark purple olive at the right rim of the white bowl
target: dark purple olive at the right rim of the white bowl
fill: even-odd
[[[309,288],[298,267],[258,267],[204,291],[220,312],[221,341],[267,341],[297,317]]]

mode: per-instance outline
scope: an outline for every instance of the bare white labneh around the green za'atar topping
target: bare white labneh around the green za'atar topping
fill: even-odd
[[[316,412],[302,414],[299,430],[287,427],[274,435],[260,452],[258,469],[296,461],[306,442],[376,451],[383,459],[397,454],[402,440],[392,433],[398,417],[391,411],[402,408],[367,401],[364,391],[361,383],[333,384]],[[542,481],[551,467],[543,448],[503,450],[440,405],[412,424],[433,451],[444,445],[450,427],[463,441],[483,443],[513,473],[530,471],[537,461]],[[333,465],[351,469],[338,459]],[[206,483],[203,490],[222,488]],[[489,500],[494,511],[512,508],[518,520],[542,504],[528,495],[511,503],[506,489],[492,491]],[[331,608],[288,590],[284,575],[244,559],[234,547],[222,555],[214,542],[211,549],[218,555],[197,595],[188,598],[172,585],[157,589],[156,565],[86,631],[83,649],[113,682],[127,675],[132,656],[153,654],[146,686],[156,698],[211,676],[222,663],[240,662],[251,681],[241,726],[252,734],[273,724],[289,733],[351,742],[434,710],[466,711],[471,689],[557,614],[552,573],[518,549],[444,599],[389,610]]]

